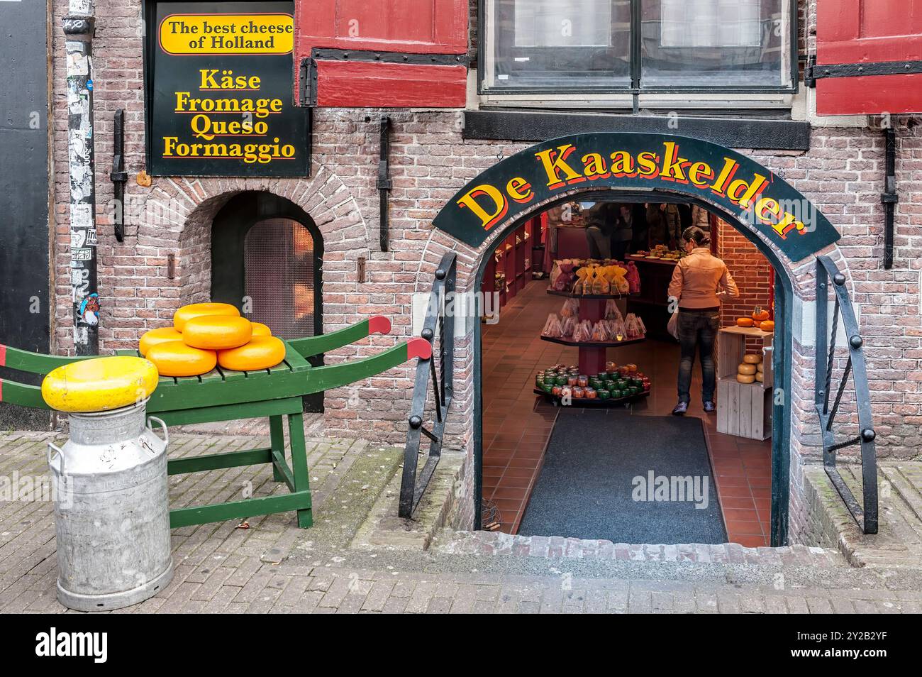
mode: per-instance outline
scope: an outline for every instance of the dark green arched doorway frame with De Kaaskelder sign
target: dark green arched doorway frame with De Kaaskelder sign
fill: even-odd
[[[787,540],[790,460],[789,397],[792,355],[791,264],[839,239],[832,224],[790,184],[728,148],[688,137],[588,134],[561,137],[522,150],[482,172],[433,221],[440,230],[479,248],[479,290],[493,243],[526,220],[565,201],[607,195],[623,202],[678,199],[708,209],[735,227],[774,267],[775,325],[772,416],[771,544]],[[480,350],[474,336],[475,528],[480,528],[483,435]],[[780,390],[780,392],[779,392]]]

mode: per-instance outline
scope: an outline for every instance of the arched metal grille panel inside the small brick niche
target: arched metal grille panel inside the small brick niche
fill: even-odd
[[[243,244],[244,315],[280,339],[313,336],[313,258],[311,233],[298,221],[256,223]]]

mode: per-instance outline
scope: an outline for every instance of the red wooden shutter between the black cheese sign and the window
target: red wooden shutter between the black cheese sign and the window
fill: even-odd
[[[320,107],[463,108],[467,0],[296,0],[295,55]],[[300,69],[300,76],[305,70]],[[311,92],[311,87],[301,91]]]

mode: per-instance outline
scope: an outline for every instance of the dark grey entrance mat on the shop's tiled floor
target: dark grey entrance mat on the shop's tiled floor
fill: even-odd
[[[561,409],[518,532],[726,542],[701,420]]]

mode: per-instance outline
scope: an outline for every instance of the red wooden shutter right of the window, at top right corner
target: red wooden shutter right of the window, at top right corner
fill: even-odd
[[[823,65],[922,61],[922,0],[818,0],[816,56],[817,113],[922,112],[922,73],[822,77]]]

